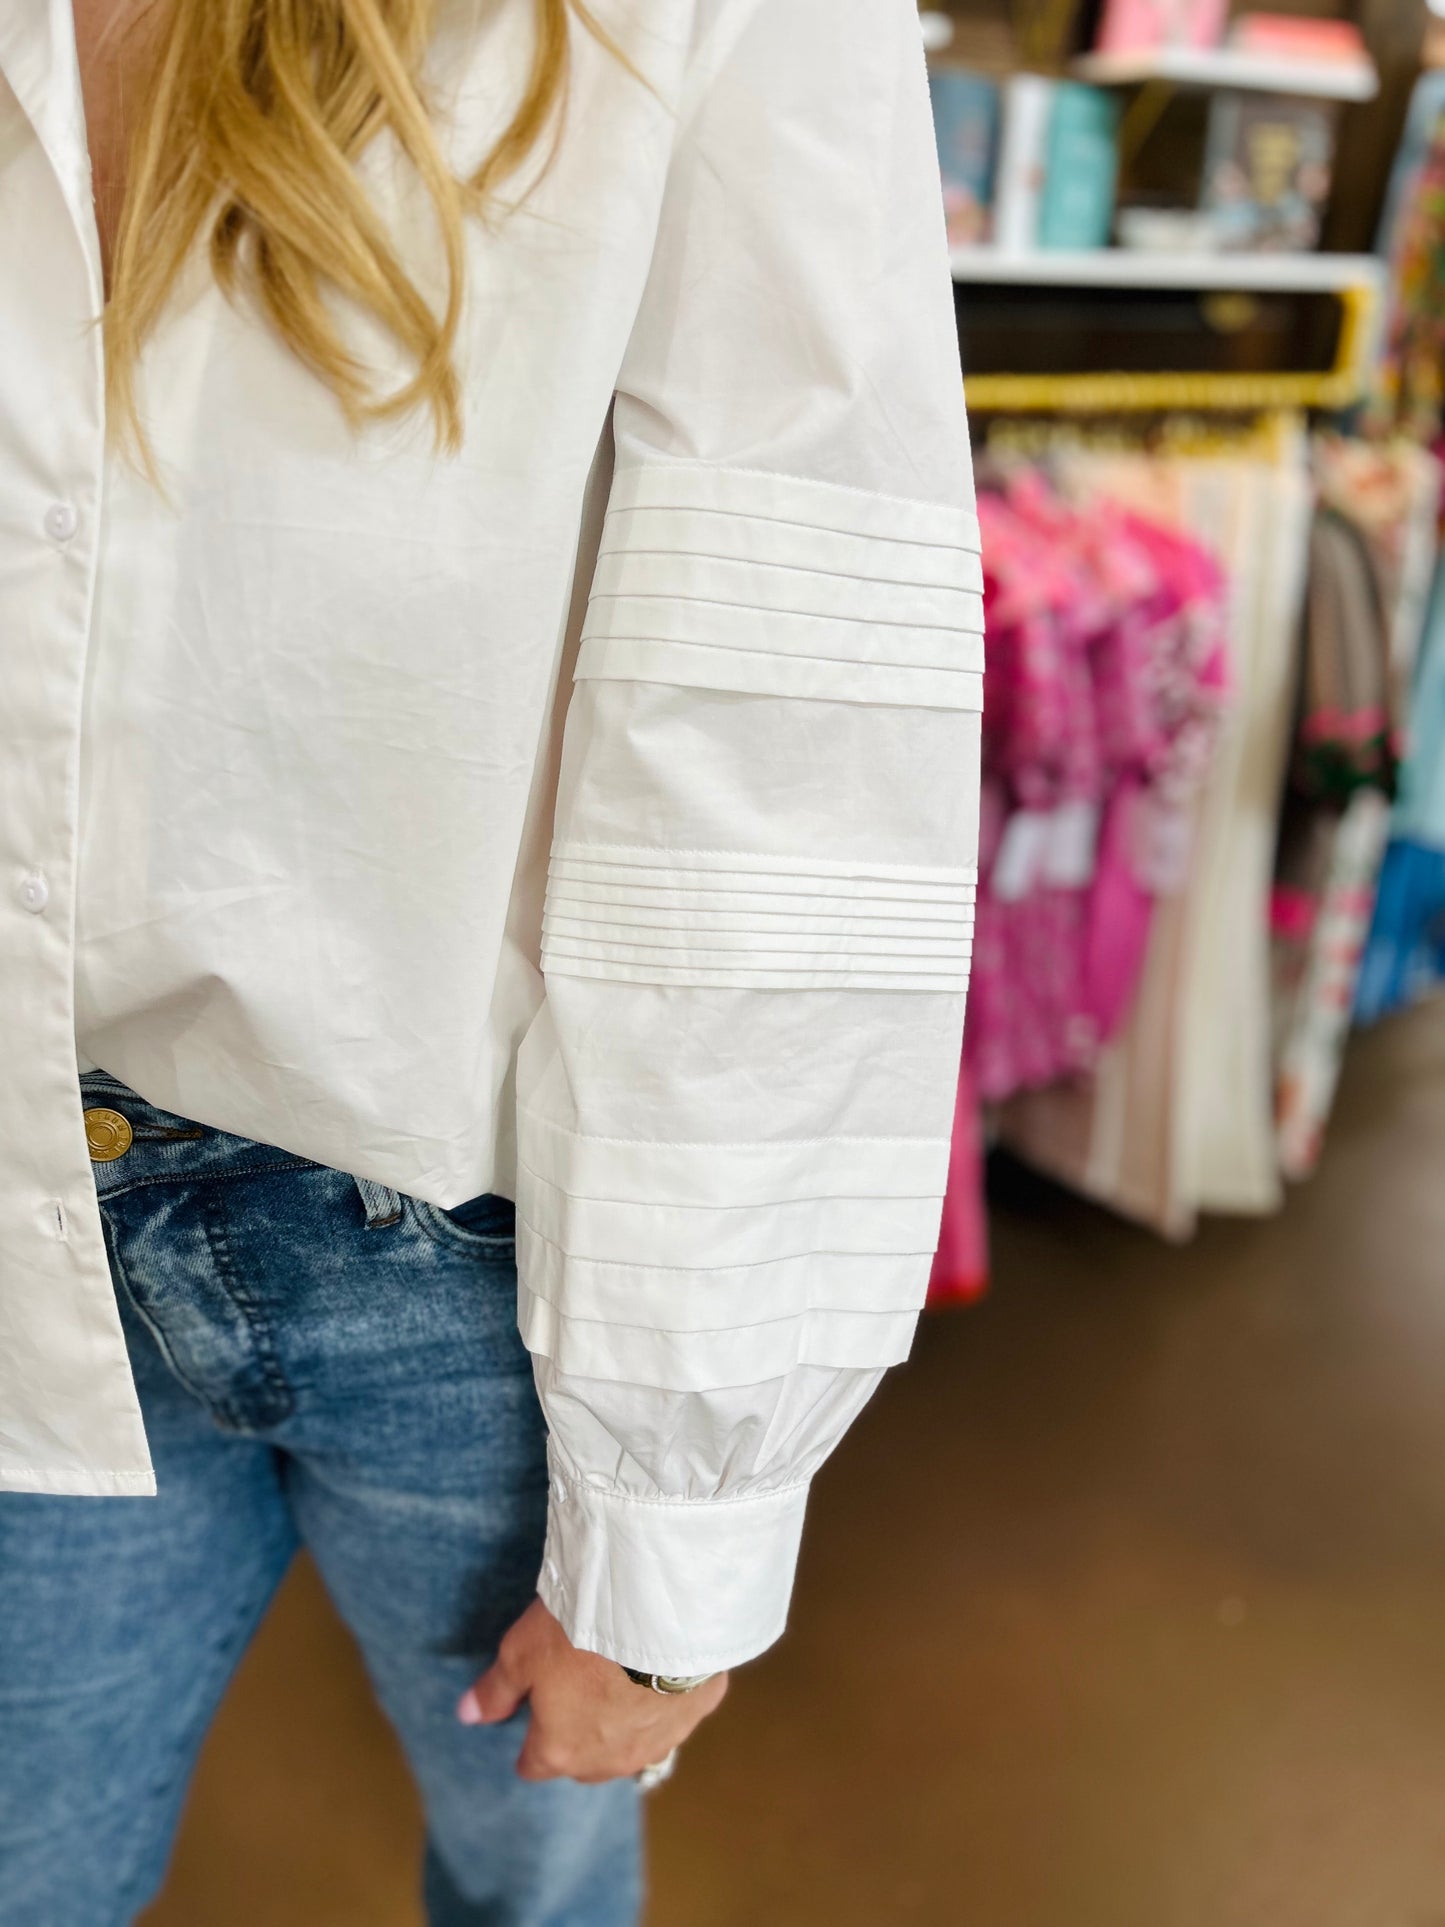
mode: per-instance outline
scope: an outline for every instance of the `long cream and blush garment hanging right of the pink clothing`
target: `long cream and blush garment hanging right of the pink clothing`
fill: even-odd
[[[1289,746],[1310,478],[1302,426],[1235,449],[1067,447],[1075,493],[1108,495],[1210,547],[1227,578],[1231,703],[1181,888],[1158,902],[1123,1031],[1094,1071],[1004,1106],[1004,1141],[1065,1183],[1183,1237],[1200,1210],[1279,1201],[1270,1029],[1270,883]]]

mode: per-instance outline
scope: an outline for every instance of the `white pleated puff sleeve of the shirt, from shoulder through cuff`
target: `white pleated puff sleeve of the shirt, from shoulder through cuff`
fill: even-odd
[[[630,1665],[782,1630],[907,1355],[977,859],[983,597],[913,0],[734,0],[678,121],[518,1073],[539,1592]]]

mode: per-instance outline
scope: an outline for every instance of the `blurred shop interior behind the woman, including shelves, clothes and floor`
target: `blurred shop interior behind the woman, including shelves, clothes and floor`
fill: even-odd
[[[934,1310],[651,1927],[1443,1927],[1445,17],[923,31],[988,599]],[[416,1927],[416,1833],[302,1567],[148,1927]]]

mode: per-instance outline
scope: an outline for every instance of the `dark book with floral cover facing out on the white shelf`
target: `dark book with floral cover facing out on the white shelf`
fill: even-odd
[[[1210,104],[1200,208],[1223,249],[1320,245],[1335,158],[1335,108],[1220,92]]]

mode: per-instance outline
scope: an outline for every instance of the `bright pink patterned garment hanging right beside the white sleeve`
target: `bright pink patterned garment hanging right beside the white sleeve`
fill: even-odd
[[[1013,470],[979,505],[990,632],[965,1052],[983,1098],[1087,1069],[1143,967],[1223,694],[1193,541]]]

